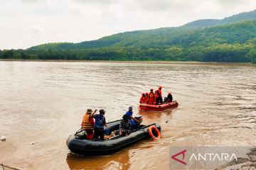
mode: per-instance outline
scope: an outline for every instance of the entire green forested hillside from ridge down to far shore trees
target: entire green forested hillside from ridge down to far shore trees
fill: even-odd
[[[255,20],[252,20],[255,19]],[[137,30],[80,43],[0,51],[0,58],[256,62],[256,11],[177,28]]]

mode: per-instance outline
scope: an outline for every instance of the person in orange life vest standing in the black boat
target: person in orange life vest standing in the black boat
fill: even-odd
[[[88,140],[93,138],[93,126],[95,124],[93,120],[93,115],[96,113],[97,109],[92,113],[92,109],[88,108],[85,115],[82,117],[82,130],[85,130],[86,137]]]

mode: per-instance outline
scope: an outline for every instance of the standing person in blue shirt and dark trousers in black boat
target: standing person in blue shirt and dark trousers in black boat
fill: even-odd
[[[108,128],[107,123],[106,123],[106,118],[105,118],[105,110],[104,109],[100,109],[100,114],[96,114],[93,116],[93,118],[95,118],[95,125],[94,125],[94,130],[95,130],[95,134],[94,137],[95,140],[100,140],[103,141],[104,140],[104,126]]]

